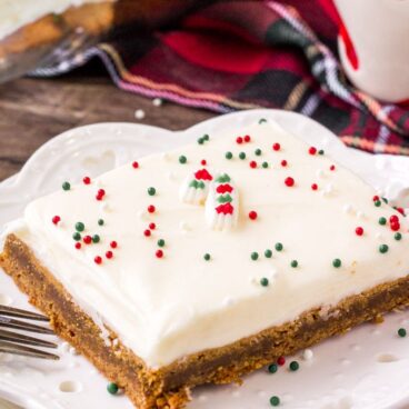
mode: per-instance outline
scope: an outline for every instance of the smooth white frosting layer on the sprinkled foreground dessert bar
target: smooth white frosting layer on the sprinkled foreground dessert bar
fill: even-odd
[[[251,141],[237,144],[239,134]],[[279,151],[271,148],[276,142]],[[255,154],[258,148],[261,156]],[[372,188],[337,163],[331,171],[333,161],[309,154],[308,148],[275,123],[223,130],[203,144],[143,158],[138,169],[128,164],[91,184],[36,200],[14,232],[87,312],[98,313],[148,366],[158,368],[409,272],[407,220],[383,202],[376,207]],[[233,153],[231,160],[225,158],[227,151]],[[246,160],[239,159],[241,151]],[[181,154],[188,159],[184,164]],[[180,200],[180,186],[202,159],[209,170],[228,172],[238,187],[235,229],[209,228],[202,206]],[[250,168],[251,160],[257,169]],[[268,168],[261,167],[263,161]],[[288,177],[295,186],[286,186]],[[148,194],[149,187],[156,188],[154,196]],[[101,201],[96,200],[98,189],[106,191]],[[147,211],[150,205],[156,212]],[[251,210],[256,220],[248,217]],[[56,215],[61,217],[58,226],[51,222]],[[400,219],[400,241],[389,221],[378,222],[391,215]],[[100,218],[104,226],[98,225]],[[86,225],[83,235],[98,233],[100,242],[74,249],[78,221]],[[156,229],[146,237],[150,222]],[[356,235],[357,227],[363,236]],[[159,239],[164,247],[158,247]],[[118,248],[107,259],[112,240]],[[281,251],[275,249],[278,242]],[[386,253],[380,245],[388,245]],[[162,258],[156,257],[158,249]],[[266,249],[271,258],[265,257]],[[101,265],[96,256],[102,257]],[[337,258],[340,268],[332,266]],[[267,287],[261,278],[269,280]]]

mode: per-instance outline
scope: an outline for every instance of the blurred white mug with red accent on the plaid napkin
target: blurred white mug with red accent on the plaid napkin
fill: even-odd
[[[388,102],[409,100],[409,0],[335,0],[338,49],[351,82]]]

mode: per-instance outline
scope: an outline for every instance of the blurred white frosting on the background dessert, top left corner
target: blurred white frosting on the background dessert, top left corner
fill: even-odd
[[[62,13],[71,6],[103,0],[0,0],[0,40],[49,13]]]

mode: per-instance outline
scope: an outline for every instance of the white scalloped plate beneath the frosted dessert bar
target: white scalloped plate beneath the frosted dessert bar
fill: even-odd
[[[0,226],[21,215],[36,197],[56,190],[64,179],[97,176],[134,158],[164,151],[232,124],[240,128],[259,118],[276,120],[309,143],[322,147],[382,194],[409,207],[409,158],[370,156],[346,148],[317,122],[297,113],[253,110],[231,113],[170,132],[133,123],[98,123],[64,132],[41,147],[21,172],[0,183]],[[0,275],[0,302],[30,308],[6,275]],[[382,325],[365,325],[313,348],[312,360],[297,372],[260,370],[245,385],[201,387],[191,409],[269,408],[277,395],[288,409],[392,409],[409,407],[409,312],[396,312]],[[0,397],[27,409],[131,409],[123,396],[106,392],[106,380],[82,358],[60,343],[59,362],[0,355]],[[68,391],[62,391],[68,390]],[[0,407],[2,403],[0,401]]]

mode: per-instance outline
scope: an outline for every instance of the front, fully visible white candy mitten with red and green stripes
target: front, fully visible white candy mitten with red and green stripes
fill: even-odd
[[[215,230],[229,230],[237,226],[239,197],[229,174],[219,173],[210,184],[206,201],[206,218]]]

